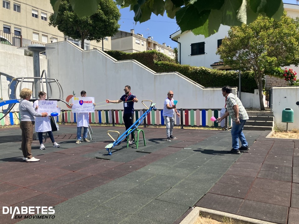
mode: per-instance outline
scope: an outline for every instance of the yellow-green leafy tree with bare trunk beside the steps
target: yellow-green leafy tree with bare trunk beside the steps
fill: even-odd
[[[263,105],[263,77],[267,71],[299,64],[299,31],[296,20],[284,12],[281,20],[259,16],[249,25],[233,26],[217,50],[234,70],[253,71]]]

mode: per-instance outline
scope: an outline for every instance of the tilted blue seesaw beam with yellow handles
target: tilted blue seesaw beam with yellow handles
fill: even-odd
[[[151,102],[150,107],[147,107],[147,106],[144,104],[145,101],[149,101],[149,102]],[[132,126],[131,126],[128,130],[126,130],[121,136],[119,136],[120,133],[119,133],[118,131],[107,131],[107,134],[108,134],[108,135],[112,138],[112,140],[114,141],[113,143],[110,143],[110,144],[108,144],[108,145],[105,147],[106,150],[108,151],[108,155],[112,155],[112,152],[111,152],[112,148],[115,147],[115,146],[117,146],[118,144],[120,144],[122,140],[124,140],[127,136],[129,136],[132,132],[134,132],[134,131],[137,129],[137,127],[141,124],[141,122],[143,122],[143,120],[146,118],[146,116],[150,113],[151,110],[156,110],[156,108],[155,108],[155,105],[156,105],[156,104],[153,103],[153,101],[151,101],[151,100],[142,100],[141,102],[142,102],[142,104],[147,108],[147,110],[146,110],[145,113],[142,114],[142,116],[141,116],[139,119],[137,119],[137,120],[135,121],[135,123],[132,124]],[[117,134],[118,134],[116,140],[110,135],[111,132],[114,132],[114,133],[117,133]]]

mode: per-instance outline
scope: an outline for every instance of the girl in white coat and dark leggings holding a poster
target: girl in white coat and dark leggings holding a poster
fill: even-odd
[[[43,91],[40,91],[38,93],[39,99],[34,101],[33,103],[33,108],[37,111],[38,109],[38,101],[39,100],[45,100],[47,94]],[[50,122],[50,116],[47,117],[36,117],[35,118],[35,131],[38,133],[38,140],[40,141],[40,149],[44,150],[46,147],[43,144],[43,132],[48,132],[49,137],[53,143],[53,147],[59,147],[60,145],[57,144],[54,140],[54,136],[52,133],[52,128],[51,128],[51,122]]]

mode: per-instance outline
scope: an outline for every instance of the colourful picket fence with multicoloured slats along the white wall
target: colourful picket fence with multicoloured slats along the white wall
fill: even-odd
[[[89,114],[90,124],[124,124],[123,122],[123,110],[96,110],[94,113]],[[137,120],[145,110],[135,110],[134,118]],[[218,118],[222,116],[220,109],[179,109],[181,117],[176,116],[174,120],[175,126],[183,127],[224,127],[224,121],[221,124],[212,122],[210,119],[212,116]],[[0,113],[0,118],[3,116]],[[20,114],[18,112],[10,112],[5,118],[0,120],[1,126],[8,126],[19,124]],[[62,112],[56,117],[56,121],[60,123],[76,123],[76,113],[72,113],[71,110],[62,110]],[[152,110],[144,121],[144,126],[163,126],[163,110]],[[228,126],[231,126],[231,120],[229,119]]]

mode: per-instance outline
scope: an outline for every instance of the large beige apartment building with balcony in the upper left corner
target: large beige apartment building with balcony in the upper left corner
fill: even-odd
[[[47,44],[68,40],[81,46],[81,41],[64,36],[57,28],[49,26],[49,16],[53,13],[50,1],[2,0],[0,7],[1,42],[24,47],[30,44]],[[103,46],[102,46],[103,43]],[[111,49],[111,38],[103,42],[84,41],[84,49]]]

